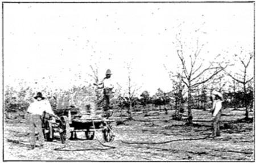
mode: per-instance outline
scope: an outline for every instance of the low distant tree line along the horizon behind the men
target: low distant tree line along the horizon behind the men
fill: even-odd
[[[113,108],[116,110],[127,110],[130,117],[132,116],[132,111],[140,110],[147,112],[149,108],[155,108],[155,110],[167,110],[174,109],[175,113],[173,117],[175,119],[181,119],[184,113],[184,109],[188,109],[188,96],[185,96],[185,86],[182,83],[176,83],[174,85],[173,91],[163,92],[160,88],[155,93],[155,95],[150,96],[148,91],[143,91],[139,97],[129,97],[122,96],[120,93],[115,93],[116,96],[112,99]],[[97,89],[91,89],[89,87],[73,87],[69,91],[62,91],[59,93],[48,94],[46,93],[48,100],[50,101],[52,108],[57,109],[57,103],[66,102],[61,107],[69,107],[71,105],[76,105],[76,107],[82,107],[83,101],[88,101],[88,97],[82,96],[82,93],[98,91]],[[231,90],[232,91],[232,90]],[[15,95],[15,96],[14,96]],[[17,96],[18,95],[18,96]],[[95,95],[95,94],[94,94]],[[129,94],[128,94],[129,95]],[[5,95],[5,111],[16,112],[27,110],[30,102],[32,102],[32,97],[34,93],[32,88],[27,87],[26,89],[21,89],[19,92],[15,92],[14,88],[7,87]],[[253,87],[248,87],[248,92],[246,93],[246,102],[244,101],[244,93],[242,91],[236,92],[224,92],[224,108],[242,108],[246,105],[248,108],[253,108]],[[58,100],[58,98],[62,99]],[[85,99],[86,98],[86,99]],[[98,92],[98,100],[101,100],[102,93]],[[192,109],[202,109],[207,110],[211,107],[212,102],[210,101],[209,94],[207,93],[207,87],[202,87],[197,90],[195,94],[191,96],[192,98]],[[65,100],[66,99],[66,100]],[[97,101],[97,100],[96,100]],[[99,107],[104,106],[102,104]]]

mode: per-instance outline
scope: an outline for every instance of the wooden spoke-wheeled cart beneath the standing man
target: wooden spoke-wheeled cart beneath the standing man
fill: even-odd
[[[58,112],[59,111],[59,112]],[[51,119],[43,120],[43,131],[46,141],[54,139],[54,133],[59,132],[61,143],[66,143],[68,140],[76,140],[77,132],[84,132],[86,140],[93,140],[95,131],[100,130],[106,142],[114,139],[111,123],[114,119],[109,118],[84,118],[78,108],[69,108],[58,110],[59,119],[54,121]]]

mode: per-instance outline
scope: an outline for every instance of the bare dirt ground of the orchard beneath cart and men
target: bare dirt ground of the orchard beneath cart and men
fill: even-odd
[[[209,111],[192,110],[194,125],[171,119],[159,111],[150,111],[145,117],[142,112],[134,114],[133,121],[115,125],[115,140],[102,146],[93,140],[71,140],[63,151],[55,151],[64,145],[56,134],[56,140],[46,142],[43,149],[28,150],[30,140],[26,123],[5,123],[4,160],[72,160],[72,161],[254,161],[254,123],[237,121],[244,117],[244,110],[225,109],[221,117],[221,136],[200,139],[212,133]],[[156,113],[158,112],[158,113]],[[186,113],[185,113],[186,114]],[[250,112],[250,117],[253,117]],[[114,114],[113,117],[118,117]],[[119,118],[117,118],[118,120]],[[124,118],[123,118],[124,119]],[[102,133],[97,138],[104,142]],[[80,132],[78,137],[85,139]],[[170,143],[150,144],[162,141]],[[180,140],[180,141],[175,141]],[[137,144],[129,144],[137,142]],[[138,143],[148,144],[138,144]]]

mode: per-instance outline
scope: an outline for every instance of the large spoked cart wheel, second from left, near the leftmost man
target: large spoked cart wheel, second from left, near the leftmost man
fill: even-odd
[[[69,131],[69,123],[68,123],[68,117],[63,116],[60,117],[60,139],[61,143],[65,144],[68,143],[68,139],[71,137],[71,133]]]

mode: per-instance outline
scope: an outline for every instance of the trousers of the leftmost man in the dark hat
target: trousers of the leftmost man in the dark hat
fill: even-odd
[[[36,136],[35,136],[35,130],[38,131],[38,139],[39,139],[39,145],[44,144],[44,135],[42,130],[42,120],[40,115],[30,115],[30,139],[31,139],[31,145],[35,145]]]

